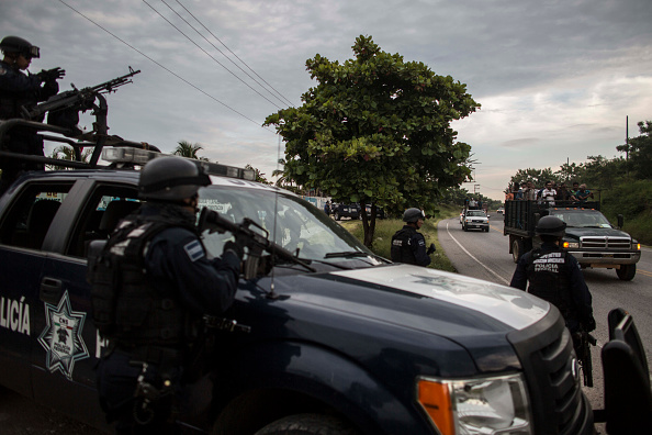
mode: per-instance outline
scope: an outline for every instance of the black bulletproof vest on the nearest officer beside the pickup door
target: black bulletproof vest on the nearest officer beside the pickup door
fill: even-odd
[[[89,258],[92,317],[102,336],[123,345],[184,343],[186,310],[176,294],[154,288],[144,264],[151,238],[171,226],[125,220],[100,255]]]

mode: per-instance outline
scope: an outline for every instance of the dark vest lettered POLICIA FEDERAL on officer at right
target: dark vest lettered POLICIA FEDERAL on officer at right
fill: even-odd
[[[528,292],[552,303],[567,321],[576,315],[571,297],[566,255],[563,250],[542,253],[541,249],[535,249],[527,260],[526,272],[530,282]]]

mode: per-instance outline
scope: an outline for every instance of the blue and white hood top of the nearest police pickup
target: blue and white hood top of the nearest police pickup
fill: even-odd
[[[279,280],[277,289],[295,302],[449,337],[522,330],[550,311],[517,289],[411,265],[294,276],[285,283]]]

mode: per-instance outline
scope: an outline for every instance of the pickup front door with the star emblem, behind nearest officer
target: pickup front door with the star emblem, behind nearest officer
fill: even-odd
[[[44,322],[34,352],[34,399],[44,404],[70,398],[69,414],[104,425],[95,388],[95,366],[105,343],[92,323],[86,250],[93,239],[106,239],[120,219],[138,208],[135,187],[86,183],[78,205],[60,219],[75,222],[65,235],[53,234],[57,253],[42,271]],[[92,187],[91,187],[92,185]],[[74,212],[74,213],[72,213]],[[59,217],[59,216],[57,216]],[[45,288],[46,287],[46,288]],[[57,406],[60,408],[60,406]]]

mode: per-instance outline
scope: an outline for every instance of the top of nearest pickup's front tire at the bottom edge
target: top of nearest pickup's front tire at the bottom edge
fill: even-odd
[[[268,424],[255,435],[359,435],[349,424],[331,415],[296,414]]]

